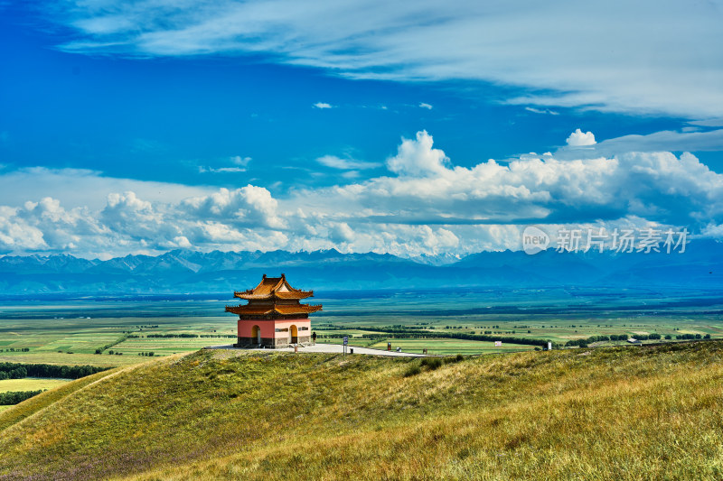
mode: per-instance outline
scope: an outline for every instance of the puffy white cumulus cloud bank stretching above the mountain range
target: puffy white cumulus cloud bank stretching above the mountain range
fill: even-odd
[[[324,162],[340,169],[378,165],[334,159]],[[75,191],[73,172],[52,171],[55,180],[67,177],[66,190],[56,186],[46,197],[29,177],[15,185],[25,192],[14,197],[18,204],[4,199],[0,253],[108,258],[173,248],[333,247],[357,253],[470,254],[519,250],[521,231],[531,224],[549,232],[562,226],[686,227],[695,236],[723,236],[723,175],[690,153],[571,160],[531,153],[466,168],[455,166],[421,131],[401,140],[386,168],[387,175],[295,190],[281,198],[250,183],[235,190],[188,188],[92,172],[82,176],[83,185],[93,185],[83,198]],[[35,174],[42,178],[41,171]]]

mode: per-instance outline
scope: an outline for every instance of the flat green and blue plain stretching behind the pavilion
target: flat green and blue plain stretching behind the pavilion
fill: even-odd
[[[237,300],[238,301],[238,300]],[[433,355],[529,350],[528,345],[434,338],[434,334],[483,334],[568,340],[596,335],[657,333],[723,337],[723,299],[718,292],[651,290],[464,290],[335,292],[315,299],[324,310],[312,316],[318,342],[352,346],[427,349]],[[134,298],[0,302],[0,361],[60,365],[133,365],[155,356],[231,344],[233,301]],[[375,328],[415,328],[431,338],[404,337]],[[199,338],[149,338],[192,334]],[[364,338],[364,336],[367,338]],[[369,338],[372,336],[373,338]],[[375,337],[374,337],[375,336]],[[603,346],[624,341],[602,343]],[[96,349],[108,347],[102,355]],[[25,352],[26,351],[26,352]],[[109,352],[113,351],[113,355]],[[117,355],[116,353],[121,353]]]

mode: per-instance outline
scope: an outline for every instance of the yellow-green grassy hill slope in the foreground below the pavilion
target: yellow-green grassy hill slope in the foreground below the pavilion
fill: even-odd
[[[0,413],[0,479],[719,479],[721,359],[721,342],[439,366],[200,351]]]

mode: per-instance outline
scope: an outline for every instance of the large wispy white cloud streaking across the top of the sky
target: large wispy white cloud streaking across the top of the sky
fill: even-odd
[[[508,98],[528,106],[723,115],[723,18],[716,2],[216,0],[189,6],[61,0],[47,11],[78,32],[60,46],[64,51],[266,55],[357,79],[528,88],[530,94]]]

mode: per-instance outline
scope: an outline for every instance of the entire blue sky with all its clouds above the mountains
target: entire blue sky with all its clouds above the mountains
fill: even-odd
[[[0,3],[0,253],[723,233],[720,2],[327,4]]]

